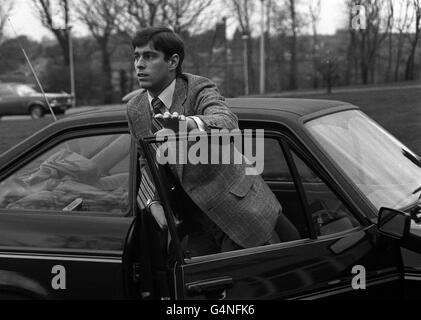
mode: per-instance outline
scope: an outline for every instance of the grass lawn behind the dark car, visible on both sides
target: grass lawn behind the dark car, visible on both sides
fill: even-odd
[[[297,95],[294,95],[297,97]],[[421,89],[376,90],[333,94],[302,94],[307,99],[340,100],[359,106],[400,141],[421,154]],[[51,117],[39,120],[0,120],[0,154],[48,125]]]

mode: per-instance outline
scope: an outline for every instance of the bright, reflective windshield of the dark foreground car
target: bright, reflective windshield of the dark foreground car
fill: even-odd
[[[306,127],[377,210],[403,209],[418,200],[421,158],[364,113],[335,113]]]

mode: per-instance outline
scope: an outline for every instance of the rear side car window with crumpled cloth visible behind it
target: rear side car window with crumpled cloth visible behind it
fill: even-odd
[[[0,208],[123,216],[129,159],[128,134],[68,140],[0,182]]]

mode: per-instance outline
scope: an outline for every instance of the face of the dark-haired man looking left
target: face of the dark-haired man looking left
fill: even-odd
[[[150,44],[134,50],[134,66],[139,85],[153,95],[165,89],[175,76],[178,56],[174,55],[168,61],[164,58],[164,53],[155,50]]]

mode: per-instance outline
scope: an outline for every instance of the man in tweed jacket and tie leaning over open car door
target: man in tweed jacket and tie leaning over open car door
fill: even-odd
[[[155,117],[164,127],[186,121],[187,130],[238,128],[237,117],[209,79],[181,72],[184,46],[176,34],[167,28],[148,28],[132,42],[139,84],[145,89],[127,105],[130,132],[136,141],[151,134],[151,110],[157,97],[162,109]],[[245,175],[246,164],[178,167],[178,181],[197,209],[187,219],[202,226],[189,234],[193,255],[299,238],[263,179]],[[150,209],[159,213],[162,206],[154,203]]]

